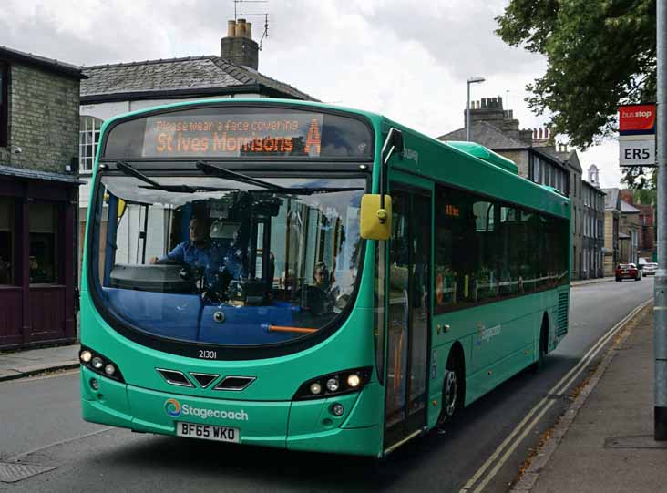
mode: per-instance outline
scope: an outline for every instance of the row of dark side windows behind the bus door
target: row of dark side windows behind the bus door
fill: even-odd
[[[564,227],[538,212],[436,186],[435,313],[567,282]]]

